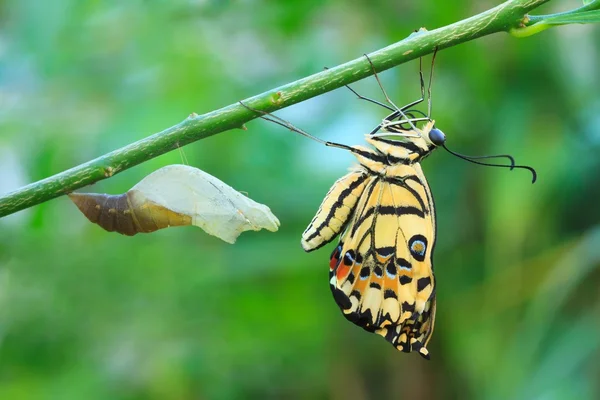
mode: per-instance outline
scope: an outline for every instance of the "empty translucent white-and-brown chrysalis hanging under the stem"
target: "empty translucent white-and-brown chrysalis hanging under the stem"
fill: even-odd
[[[128,236],[196,225],[235,243],[244,231],[279,228],[269,207],[187,165],[163,167],[120,195],[71,193],[69,197],[91,222]]]

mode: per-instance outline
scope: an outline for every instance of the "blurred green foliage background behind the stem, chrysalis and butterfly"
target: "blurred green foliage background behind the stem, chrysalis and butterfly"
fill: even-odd
[[[0,1],[0,192],[443,26],[498,1]],[[579,6],[553,1],[538,11]],[[497,34],[438,54],[432,360],[347,322],[330,245],[300,235],[354,163],[264,121],[185,147],[266,203],[277,233],[123,237],[66,198],[0,220],[0,399],[600,398],[600,29]],[[428,65],[428,61],[425,63]],[[381,74],[418,97],[418,62]],[[381,98],[371,78],[354,87]],[[278,113],[358,144],[385,110],[345,89]],[[122,193],[174,151],[100,182]],[[86,189],[86,190],[87,190]]]

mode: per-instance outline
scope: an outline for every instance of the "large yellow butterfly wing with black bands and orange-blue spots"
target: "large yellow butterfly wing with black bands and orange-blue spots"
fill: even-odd
[[[401,168],[364,189],[331,255],[330,284],[347,319],[429,358],[435,210],[420,165]]]

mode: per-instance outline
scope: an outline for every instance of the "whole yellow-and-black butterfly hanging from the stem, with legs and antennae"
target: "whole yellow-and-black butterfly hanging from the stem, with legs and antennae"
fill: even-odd
[[[436,312],[433,268],[436,218],[421,161],[443,147],[475,164],[528,169],[533,181],[536,179],[532,168],[515,165],[509,155],[465,156],[446,147],[445,134],[431,118],[435,54],[429,76],[427,114],[413,108],[425,100],[422,68],[420,99],[399,108],[387,95],[373,63],[365,55],[388,104],[347,88],[359,99],[392,111],[365,135],[370,147],[324,141],[288,121],[241,103],[261,113],[263,119],[326,146],[348,150],[356,157],[358,165],[338,179],[326,194],[302,234],[302,247],[307,252],[314,251],[339,236],[330,256],[329,284],[343,315],[363,329],[383,336],[396,349],[418,352],[426,359],[430,358],[427,345]],[[485,158],[507,158],[510,165],[476,161]]]

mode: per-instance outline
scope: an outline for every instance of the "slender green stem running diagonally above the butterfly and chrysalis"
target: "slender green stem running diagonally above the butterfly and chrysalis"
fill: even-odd
[[[377,71],[481,36],[506,32],[524,23],[525,15],[549,0],[509,0],[481,14],[432,31],[419,32],[369,54]],[[244,100],[248,106],[272,112],[356,82],[373,74],[365,57],[319,72]],[[183,122],[129,144],[85,164],[22,187],[0,197],[0,217],[32,207],[121,171],[180,146],[234,128],[256,118],[238,103]]]

